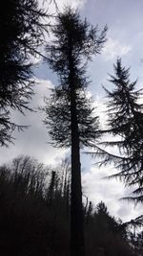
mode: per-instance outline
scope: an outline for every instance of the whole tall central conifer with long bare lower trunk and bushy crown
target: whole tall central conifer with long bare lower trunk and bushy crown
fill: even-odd
[[[45,124],[53,145],[72,148],[71,255],[84,256],[84,223],[81,190],[80,148],[90,146],[98,137],[98,118],[87,97],[86,61],[100,54],[107,28],[81,21],[71,8],[59,13],[51,29],[54,39],[47,47],[51,69],[59,85],[46,99]]]

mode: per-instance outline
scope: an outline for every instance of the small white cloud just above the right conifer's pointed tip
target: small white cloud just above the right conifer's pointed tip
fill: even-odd
[[[131,45],[120,43],[118,40],[109,37],[103,49],[103,58],[106,60],[122,57],[132,51]]]

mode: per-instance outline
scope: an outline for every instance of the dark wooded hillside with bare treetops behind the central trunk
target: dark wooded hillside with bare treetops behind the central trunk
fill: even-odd
[[[70,255],[71,165],[18,156],[0,167],[0,254]],[[110,215],[104,202],[83,205],[87,255],[142,255],[142,233]]]

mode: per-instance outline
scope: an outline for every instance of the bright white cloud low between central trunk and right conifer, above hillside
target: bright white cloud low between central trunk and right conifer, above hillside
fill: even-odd
[[[108,210],[115,218],[122,221],[130,221],[142,214],[142,205],[134,207],[133,203],[119,200],[125,196],[131,196],[132,189],[125,188],[124,184],[115,179],[104,179],[112,175],[115,170],[110,167],[98,169],[92,167],[90,171],[82,174],[83,193],[96,205],[101,200],[105,202]]]

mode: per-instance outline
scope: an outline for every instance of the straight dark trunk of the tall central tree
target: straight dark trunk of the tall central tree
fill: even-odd
[[[71,89],[72,118],[72,198],[71,198],[71,256],[85,256],[84,217],[82,206],[79,132],[76,113],[76,95]]]

